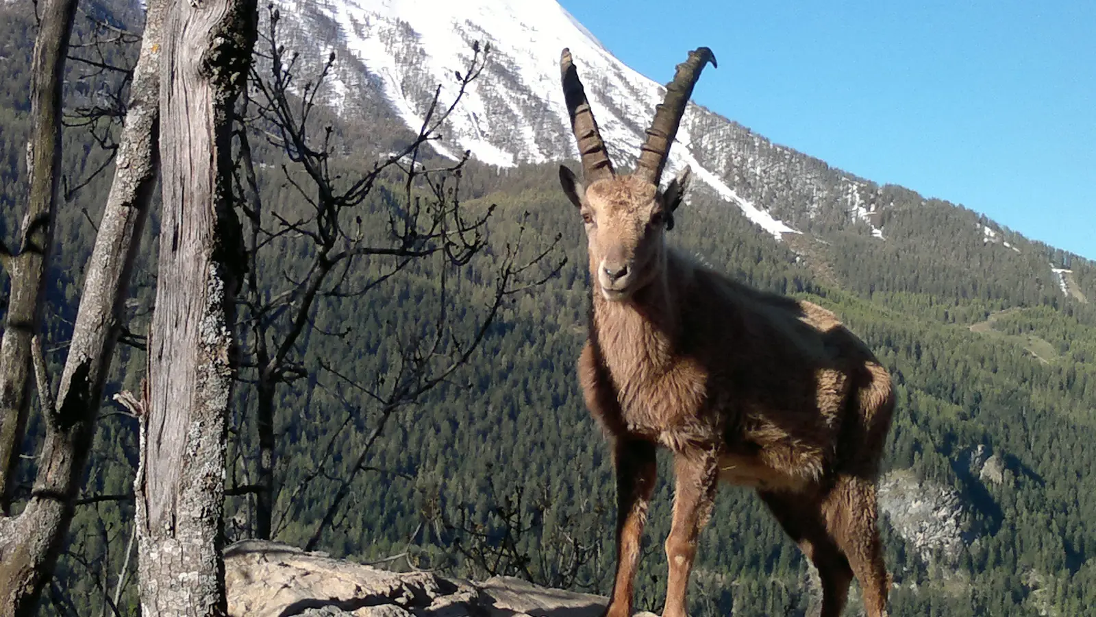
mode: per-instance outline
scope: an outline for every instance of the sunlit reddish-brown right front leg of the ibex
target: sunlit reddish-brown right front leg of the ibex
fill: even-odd
[[[674,456],[674,523],[666,538],[666,607],[662,617],[686,617],[685,592],[696,557],[696,541],[708,523],[719,478],[715,450]]]

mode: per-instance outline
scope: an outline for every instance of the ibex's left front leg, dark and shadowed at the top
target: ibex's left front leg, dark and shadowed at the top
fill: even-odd
[[[631,617],[632,583],[647,521],[647,505],[658,478],[654,444],[619,437],[614,444],[617,476],[617,570],[607,617]]]

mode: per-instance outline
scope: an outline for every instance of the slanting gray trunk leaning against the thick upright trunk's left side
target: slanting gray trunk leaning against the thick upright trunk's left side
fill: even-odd
[[[156,186],[160,7],[162,0],[149,3],[114,181],[88,262],[57,404],[44,411],[46,436],[33,492],[18,517],[0,518],[0,616],[31,614],[48,582],[72,519],[94,436],[103,382],[121,332],[129,273]],[[54,12],[44,8],[44,24]],[[43,399],[53,400],[45,394]]]

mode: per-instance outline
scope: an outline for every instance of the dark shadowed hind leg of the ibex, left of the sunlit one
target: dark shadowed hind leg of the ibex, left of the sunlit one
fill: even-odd
[[[841,617],[848,599],[853,570],[825,529],[821,505],[818,502],[804,503],[804,497],[791,493],[757,494],[818,570],[822,583],[821,617]]]

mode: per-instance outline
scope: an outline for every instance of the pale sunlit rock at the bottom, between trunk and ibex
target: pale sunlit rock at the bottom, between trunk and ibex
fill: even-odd
[[[240,617],[598,617],[606,602],[511,577],[389,572],[259,540],[226,549],[225,583],[228,614]]]

